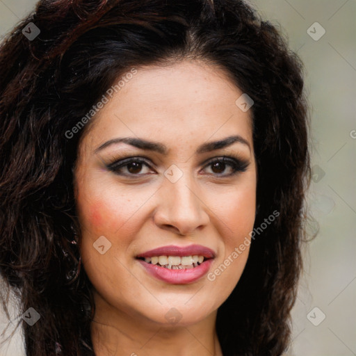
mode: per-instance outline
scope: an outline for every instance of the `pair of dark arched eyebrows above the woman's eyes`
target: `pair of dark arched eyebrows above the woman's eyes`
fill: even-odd
[[[165,145],[163,145],[163,143],[153,142],[153,141],[144,140],[143,138],[133,138],[133,137],[113,138],[112,140],[108,140],[106,141],[106,143],[103,143],[102,145],[97,147],[97,149],[95,149],[94,152],[97,153],[102,149],[117,143],[126,143],[127,145],[131,145],[148,151],[159,152],[160,154],[168,153],[168,148]],[[245,140],[245,138],[239,135],[235,135],[235,136],[229,136],[227,138],[223,138],[223,140],[203,143],[202,145],[197,147],[195,153],[203,154],[206,152],[215,151],[216,149],[223,149],[225,147],[229,147],[230,145],[233,145],[234,143],[242,143],[243,145],[247,145],[251,151],[250,143],[248,142],[248,140]]]

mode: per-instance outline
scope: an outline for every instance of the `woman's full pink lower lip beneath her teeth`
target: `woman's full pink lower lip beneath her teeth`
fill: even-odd
[[[170,270],[156,264],[147,264],[142,259],[138,259],[140,264],[154,277],[170,284],[188,284],[199,280],[207,274],[213,259],[207,259],[202,264],[184,270]]]

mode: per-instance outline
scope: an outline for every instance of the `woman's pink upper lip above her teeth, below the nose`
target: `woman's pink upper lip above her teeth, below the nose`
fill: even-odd
[[[162,246],[161,248],[154,248],[137,255],[137,257],[154,257],[154,256],[193,256],[199,255],[206,258],[215,257],[215,252],[210,248],[207,248],[202,245],[188,245],[188,246],[177,246],[177,245],[168,245]]]

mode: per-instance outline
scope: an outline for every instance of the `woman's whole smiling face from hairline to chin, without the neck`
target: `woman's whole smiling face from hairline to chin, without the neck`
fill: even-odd
[[[256,207],[241,95],[216,67],[143,67],[92,119],[75,188],[83,266],[103,322],[191,325],[215,316],[236,286]]]

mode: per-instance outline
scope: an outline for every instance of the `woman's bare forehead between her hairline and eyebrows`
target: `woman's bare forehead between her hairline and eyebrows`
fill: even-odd
[[[241,95],[225,72],[204,63],[138,67],[97,114],[90,141],[139,136],[195,145],[238,134],[252,145],[250,111],[236,105]]]

